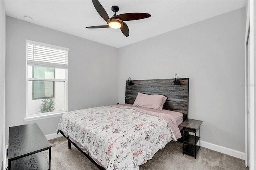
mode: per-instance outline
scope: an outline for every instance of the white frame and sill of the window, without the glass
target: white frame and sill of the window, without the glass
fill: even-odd
[[[27,58],[28,58],[28,56],[27,56],[28,55],[27,43],[69,51],[69,49],[65,48],[65,47],[59,47],[59,46],[56,46],[56,45],[50,45],[50,44],[46,44],[46,43],[40,43],[40,42],[31,41],[31,40],[26,40],[26,61],[27,61]],[[34,66],[47,67],[47,65],[45,65],[45,66],[34,65]],[[51,67],[50,64],[49,64],[48,67]],[[59,68],[59,67],[52,67],[52,68]],[[28,63],[26,62],[26,118],[24,119],[24,121],[30,121],[30,120],[33,121],[33,120],[43,119],[43,118],[48,118],[48,117],[56,117],[56,116],[62,115],[63,113],[68,112],[68,68],[63,68],[63,69],[65,70],[65,79],[34,79],[34,78],[28,78]],[[29,81],[64,81],[65,82],[65,110],[46,112],[46,113],[29,114],[28,113],[28,83],[29,83]],[[41,99],[38,99],[38,100],[41,100]]]

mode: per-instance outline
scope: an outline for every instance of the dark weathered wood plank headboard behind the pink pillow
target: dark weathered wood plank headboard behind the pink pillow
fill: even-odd
[[[172,85],[172,79],[132,80],[126,85],[125,103],[133,104],[138,92],[158,94],[168,97],[163,109],[183,113],[183,121],[188,118],[188,78],[179,78],[180,85]],[[126,81],[127,83],[127,81]]]

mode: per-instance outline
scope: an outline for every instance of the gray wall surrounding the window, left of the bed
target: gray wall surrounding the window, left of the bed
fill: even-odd
[[[60,117],[24,122],[26,117],[26,42],[33,40],[70,48],[68,110],[118,102],[118,49],[6,17],[6,142],[8,129],[37,123],[42,132],[56,132]]]

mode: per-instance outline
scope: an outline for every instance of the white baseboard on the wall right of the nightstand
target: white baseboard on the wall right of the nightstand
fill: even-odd
[[[208,149],[211,149],[211,150],[223,153],[223,154],[227,154],[227,155],[234,156],[236,158],[245,160],[245,153],[244,152],[240,152],[240,151],[237,151],[237,150],[234,150],[234,149],[226,148],[226,147],[219,146],[219,145],[216,145],[216,144],[212,144],[212,143],[209,143],[209,142],[204,142],[202,140],[201,140],[201,146],[204,147],[204,148],[208,148]]]

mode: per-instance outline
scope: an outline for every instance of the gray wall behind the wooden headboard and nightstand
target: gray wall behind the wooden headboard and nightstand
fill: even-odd
[[[245,152],[244,35],[240,8],[118,50],[118,101],[125,80],[190,78],[189,114],[201,140]]]

